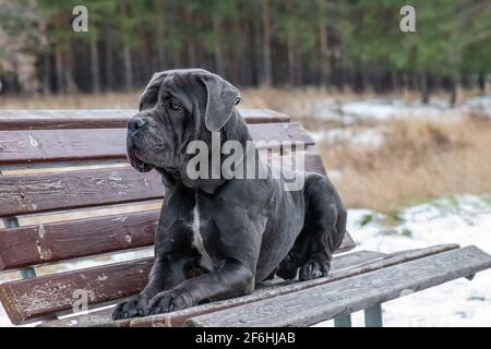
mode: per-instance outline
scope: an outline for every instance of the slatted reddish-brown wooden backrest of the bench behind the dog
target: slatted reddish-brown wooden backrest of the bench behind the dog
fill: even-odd
[[[0,111],[0,273],[23,277],[0,285],[0,301],[14,324],[70,312],[80,290],[98,306],[145,286],[152,256],[63,273],[38,268],[152,245],[165,192],[155,171],[139,173],[127,161],[124,128],[133,113]],[[306,170],[325,173],[298,123],[271,110],[241,115],[254,141],[302,142]],[[339,251],[354,245],[347,234]]]

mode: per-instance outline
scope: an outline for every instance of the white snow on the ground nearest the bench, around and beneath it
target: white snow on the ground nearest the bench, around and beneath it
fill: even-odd
[[[476,244],[491,253],[491,195],[435,200],[408,207],[394,217],[350,209],[348,231],[358,243],[357,250],[391,253],[459,243]],[[141,256],[134,253],[115,261]],[[77,268],[96,262],[80,263]],[[477,274],[472,281],[457,279],[384,303],[383,312],[386,326],[491,326],[491,269]],[[0,308],[0,326],[8,325]],[[354,314],[354,326],[362,325],[362,313]],[[320,326],[332,326],[332,321]]]

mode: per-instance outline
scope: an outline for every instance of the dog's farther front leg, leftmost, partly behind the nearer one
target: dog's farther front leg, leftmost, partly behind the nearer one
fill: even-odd
[[[119,303],[112,312],[113,320],[144,315],[148,301],[163,290],[170,289],[185,279],[184,260],[167,261],[165,257],[156,257],[148,275],[148,284],[143,291],[129,300]]]

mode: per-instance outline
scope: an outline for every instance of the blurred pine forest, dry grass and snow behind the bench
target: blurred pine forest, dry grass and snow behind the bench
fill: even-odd
[[[175,68],[301,122],[360,249],[491,252],[491,1],[0,0],[0,109],[135,109]],[[390,302],[386,324],[489,326],[489,274]]]

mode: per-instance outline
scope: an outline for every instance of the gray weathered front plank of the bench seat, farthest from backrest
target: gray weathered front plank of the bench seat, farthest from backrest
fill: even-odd
[[[309,326],[491,267],[476,246],[452,250],[328,285],[195,316],[189,326]]]

